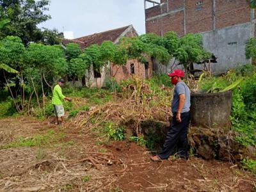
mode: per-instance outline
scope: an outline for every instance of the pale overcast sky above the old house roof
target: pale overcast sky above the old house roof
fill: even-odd
[[[39,27],[73,31],[74,38],[132,24],[145,33],[143,0],[51,0],[47,20]]]

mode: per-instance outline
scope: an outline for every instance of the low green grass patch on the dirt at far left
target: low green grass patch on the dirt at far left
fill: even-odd
[[[52,130],[48,131],[45,134],[35,135],[29,138],[17,138],[12,143],[8,143],[3,145],[0,148],[12,148],[12,147],[40,147],[42,145],[52,145],[54,143],[58,143],[59,141],[63,141],[65,138],[65,134],[60,132],[56,133]]]

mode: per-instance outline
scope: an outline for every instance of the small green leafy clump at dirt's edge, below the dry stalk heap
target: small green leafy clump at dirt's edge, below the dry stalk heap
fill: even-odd
[[[106,132],[108,134],[108,138],[114,141],[122,141],[125,139],[124,127],[117,126],[113,124],[113,122],[109,122],[106,124]]]

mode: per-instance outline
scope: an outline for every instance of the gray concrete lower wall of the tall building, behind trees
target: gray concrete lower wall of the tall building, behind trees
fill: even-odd
[[[251,37],[251,22],[202,33],[204,47],[211,51],[218,63],[212,64],[215,73],[250,63],[245,57],[245,44]]]

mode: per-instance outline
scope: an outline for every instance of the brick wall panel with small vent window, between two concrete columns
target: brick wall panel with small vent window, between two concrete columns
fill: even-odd
[[[212,0],[204,0],[202,5],[196,5],[197,2],[198,0],[186,1],[187,33],[212,30]]]

